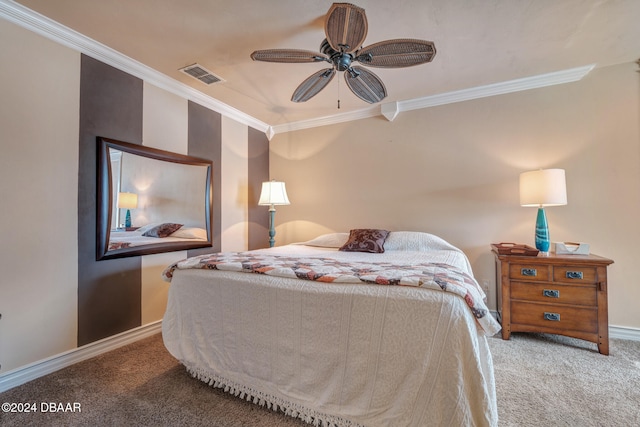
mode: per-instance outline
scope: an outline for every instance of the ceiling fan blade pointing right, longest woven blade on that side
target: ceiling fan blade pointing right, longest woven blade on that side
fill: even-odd
[[[360,49],[355,60],[370,67],[402,68],[431,62],[435,55],[436,46],[433,42],[395,39]]]

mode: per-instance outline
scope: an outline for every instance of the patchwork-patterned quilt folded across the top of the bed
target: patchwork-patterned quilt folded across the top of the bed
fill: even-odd
[[[441,290],[463,298],[485,334],[500,325],[493,319],[476,280],[455,267],[440,263],[346,262],[322,257],[291,257],[251,252],[225,252],[187,258],[167,267],[162,277],[171,281],[176,269],[209,269],[257,273],[327,283],[413,286]]]

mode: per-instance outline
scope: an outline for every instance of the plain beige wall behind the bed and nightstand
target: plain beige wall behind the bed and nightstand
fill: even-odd
[[[557,167],[569,204],[548,208],[552,241],[612,258],[612,325],[640,328],[640,74],[595,69],[582,81],[278,134],[271,174],[292,200],[278,244],[380,227],[437,234],[491,287],[492,242],[533,245],[535,209],[518,205],[521,172]],[[393,90],[393,88],[389,88]]]

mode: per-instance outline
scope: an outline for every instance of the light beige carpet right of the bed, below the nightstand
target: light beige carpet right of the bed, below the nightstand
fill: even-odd
[[[501,426],[640,426],[640,342],[492,338]]]

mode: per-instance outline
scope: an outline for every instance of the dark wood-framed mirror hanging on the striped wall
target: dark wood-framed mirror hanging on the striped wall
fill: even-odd
[[[212,246],[212,162],[98,137],[96,259]]]

